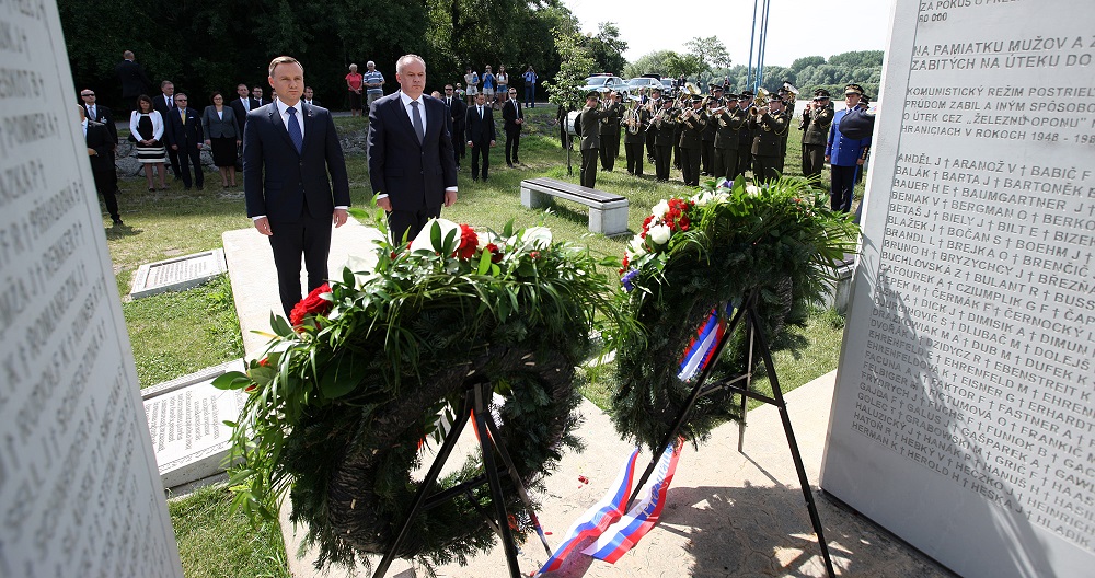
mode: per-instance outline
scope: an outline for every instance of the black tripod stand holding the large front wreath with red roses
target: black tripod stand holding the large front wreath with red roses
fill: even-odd
[[[549,556],[552,553],[551,546],[548,545],[548,539],[540,527],[540,520],[537,519],[537,515],[532,510],[532,501],[529,499],[528,490],[525,488],[525,484],[521,482],[521,477],[517,473],[517,467],[514,465],[514,461],[509,456],[509,452],[506,450],[506,444],[503,442],[502,436],[498,434],[498,425],[495,424],[494,416],[491,413],[491,407],[487,404],[487,400],[491,398],[491,394],[494,391],[491,383],[485,380],[477,380],[468,383],[466,386],[468,390],[464,392],[464,400],[461,404],[460,412],[457,414],[457,421],[452,425],[448,435],[446,435],[445,443],[441,444],[441,449],[438,451],[437,456],[434,458],[434,463],[429,466],[429,472],[426,474],[426,478],[423,479],[422,484],[418,486],[418,492],[415,494],[411,511],[407,512],[406,518],[400,525],[400,533],[395,537],[395,542],[392,543],[392,546],[380,560],[376,571],[372,574],[372,578],[383,578],[383,576],[388,574],[389,567],[395,559],[395,553],[399,551],[400,545],[406,537],[407,532],[411,530],[412,522],[419,511],[428,510],[446,500],[452,499],[460,494],[466,494],[468,499],[475,505],[475,508],[481,515],[483,515],[484,518],[486,518],[491,528],[493,528],[494,531],[502,537],[502,545],[506,552],[506,563],[509,566],[509,576],[510,578],[520,578],[521,569],[517,563],[517,544],[514,542],[514,533],[509,528],[509,515],[506,512],[506,498],[502,490],[502,478],[499,477],[499,473],[503,471],[509,474],[521,501],[523,501],[525,506],[529,509],[529,516],[537,529],[537,533],[540,535],[540,541],[543,543],[544,550],[548,551]],[[437,482],[438,476],[441,474],[441,469],[449,460],[449,454],[452,453],[452,449],[457,446],[457,441],[460,439],[460,434],[463,431],[464,426],[468,425],[469,419],[474,419],[473,427],[479,436],[480,451],[483,454],[483,470],[485,473],[475,478],[458,484],[449,489],[427,496],[427,492]],[[502,467],[495,463],[495,451],[498,452],[498,456],[502,459]],[[494,504],[495,510],[493,518],[491,512],[486,511],[486,509],[475,500],[471,493],[472,488],[479,487],[484,483],[491,486],[491,501]],[[495,520],[497,520],[497,522]]]

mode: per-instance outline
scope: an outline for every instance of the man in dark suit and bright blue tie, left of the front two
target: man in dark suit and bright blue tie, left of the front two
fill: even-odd
[[[243,194],[247,217],[269,238],[281,309],[288,317],[302,297],[301,255],[309,291],[327,279],[331,224],[346,222],[349,180],[331,113],[300,102],[304,90],[300,62],[288,56],[275,58],[269,83],[277,100],[251,111],[243,134]]]

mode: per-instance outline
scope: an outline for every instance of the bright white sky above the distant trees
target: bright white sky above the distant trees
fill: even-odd
[[[597,34],[601,22],[613,22],[627,43],[629,62],[655,50],[685,53],[684,43],[718,36],[730,53],[730,65],[749,62],[753,0],[563,0],[581,22],[583,33]],[[884,50],[892,1],[842,4],[807,0],[770,0],[765,65],[791,66],[803,56],[851,50]],[[758,2],[760,5],[760,2]],[[758,22],[760,9],[758,8]],[[759,27],[759,24],[758,24]],[[620,73],[620,70],[611,72]]]

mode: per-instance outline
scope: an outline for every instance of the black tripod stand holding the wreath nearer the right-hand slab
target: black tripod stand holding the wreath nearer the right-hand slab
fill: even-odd
[[[791,428],[791,416],[787,414],[787,404],[783,400],[783,391],[780,389],[780,380],[775,374],[775,365],[772,363],[772,351],[768,347],[764,331],[761,327],[760,319],[757,315],[757,293],[754,291],[747,292],[744,303],[745,304],[738,308],[735,312],[734,317],[726,327],[726,331],[718,339],[718,343],[715,344],[715,352],[711,362],[707,363],[707,366],[703,368],[703,371],[700,372],[700,375],[695,380],[695,385],[692,386],[692,393],[689,395],[688,402],[677,415],[673,420],[672,428],[666,434],[665,438],[662,438],[661,444],[658,446],[658,448],[669,446],[669,443],[677,438],[678,432],[680,432],[684,421],[688,420],[689,415],[692,413],[692,408],[695,407],[695,403],[700,400],[700,397],[710,395],[716,391],[728,391],[730,393],[737,393],[741,396],[741,420],[738,423],[739,452],[741,451],[742,441],[745,439],[747,398],[753,398],[774,405],[780,411],[780,418],[783,420],[783,431],[787,435],[787,444],[791,448],[791,458],[794,460],[795,470],[798,472],[798,483],[803,487],[803,495],[806,498],[806,508],[810,513],[810,522],[814,524],[814,532],[818,536],[818,545],[821,546],[821,557],[825,559],[826,570],[829,573],[830,578],[834,578],[837,574],[832,567],[832,558],[829,556],[829,544],[825,540],[825,533],[821,528],[821,518],[818,516],[817,504],[815,504],[814,494],[810,492],[810,483],[806,477],[806,467],[803,465],[803,456],[798,451],[798,442],[795,440],[795,432]],[[704,385],[704,382],[707,381],[713,368],[717,365],[723,350],[726,348],[726,344],[729,343],[734,331],[742,323],[742,317],[745,317],[745,331],[748,332],[747,335],[749,339],[749,357],[746,366],[746,372],[742,375],[738,375],[728,381]],[[772,383],[771,397],[753,392],[749,388],[752,384],[752,371],[758,361],[754,357],[754,352],[760,354],[760,360],[764,361],[764,367],[768,369],[768,374]],[[745,385],[739,384],[742,381],[745,381]],[[643,472],[643,477],[639,478],[638,484],[635,485],[635,490],[627,499],[626,509],[631,508],[632,504],[638,497],[643,486],[645,486],[646,482],[649,481],[655,467],[657,467],[659,458],[660,454],[655,452],[650,463],[646,466],[646,471]]]

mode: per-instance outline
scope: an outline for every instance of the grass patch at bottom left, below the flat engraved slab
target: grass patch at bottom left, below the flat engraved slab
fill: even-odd
[[[186,578],[289,578],[276,521],[257,527],[232,513],[223,486],[201,488],[168,502]]]

